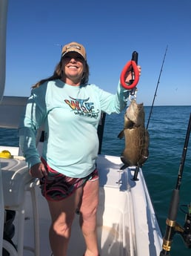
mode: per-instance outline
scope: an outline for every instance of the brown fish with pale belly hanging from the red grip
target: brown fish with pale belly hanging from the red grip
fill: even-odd
[[[124,114],[124,129],[118,134],[118,138],[125,140],[125,148],[121,153],[121,169],[142,165],[149,157],[150,135],[144,126],[144,104],[130,102]]]

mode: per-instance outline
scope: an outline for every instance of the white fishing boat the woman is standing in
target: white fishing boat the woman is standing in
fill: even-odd
[[[0,128],[17,129],[27,98],[3,95],[6,0],[0,0],[0,11]],[[99,127],[103,129],[104,125],[101,125]],[[39,152],[43,145],[40,140],[42,132],[39,131],[37,136]],[[19,147],[0,145],[0,152],[0,255],[53,255],[48,237],[50,214],[47,202],[41,196],[38,179],[30,177]],[[158,256],[162,235],[142,169],[139,168],[135,179],[136,167],[121,170],[120,157],[104,154],[98,154],[97,165],[100,177],[98,245],[101,256]],[[84,254],[85,244],[78,217],[76,213],[68,256]]]

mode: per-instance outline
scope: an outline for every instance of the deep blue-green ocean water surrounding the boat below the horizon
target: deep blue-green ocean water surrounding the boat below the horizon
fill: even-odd
[[[145,125],[147,125],[150,107],[145,106],[144,110]],[[184,150],[190,112],[191,106],[154,106],[148,126],[150,134],[150,155],[147,162],[144,163],[142,171],[163,235],[166,229],[166,220],[170,208],[172,191],[176,187],[178,180],[178,170]],[[121,152],[124,150],[124,140],[118,139],[118,133],[122,130],[123,125],[124,111],[121,114],[106,116],[101,154],[121,155]],[[1,128],[0,145],[19,145],[17,131]],[[184,211],[187,210],[184,205],[190,203],[191,138],[187,148],[187,157],[184,163],[180,186],[177,223],[181,226],[184,226]],[[191,249],[187,249],[179,234],[173,236],[170,255],[191,255]]]

